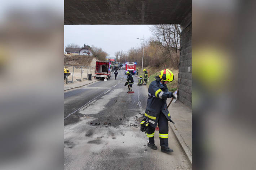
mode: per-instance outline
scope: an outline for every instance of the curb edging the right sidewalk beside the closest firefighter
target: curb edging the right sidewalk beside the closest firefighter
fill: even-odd
[[[177,128],[175,127],[175,125],[171,125],[171,123],[169,123],[169,127],[171,127],[172,132],[175,134],[175,137],[178,141],[178,143],[180,144],[182,151],[185,153],[187,160],[190,162],[191,166],[192,166],[192,153],[189,150],[189,147],[187,146],[187,144],[185,143],[184,139],[182,138],[180,132],[177,130]],[[176,130],[175,130],[176,129]]]

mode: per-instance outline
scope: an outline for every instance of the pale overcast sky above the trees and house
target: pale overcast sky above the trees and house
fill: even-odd
[[[70,43],[102,48],[111,57],[116,51],[128,51],[141,45],[141,38],[153,37],[150,25],[65,25],[64,47]]]

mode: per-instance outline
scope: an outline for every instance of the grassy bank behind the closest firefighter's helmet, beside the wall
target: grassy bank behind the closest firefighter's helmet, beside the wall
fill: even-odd
[[[137,67],[139,69],[139,76],[141,75],[141,67]],[[146,69],[149,73],[149,81],[147,83],[147,87],[149,87],[150,83],[152,81],[155,80],[155,76],[159,75],[161,70],[163,69],[162,67],[157,68],[157,67],[146,67],[143,68]],[[173,68],[167,68],[169,70],[172,71],[173,75],[174,75],[174,80],[172,82],[167,83],[167,87],[169,89],[169,91],[171,92],[175,92],[177,90],[177,86],[178,86],[178,69],[173,69]],[[143,74],[142,74],[142,77]]]

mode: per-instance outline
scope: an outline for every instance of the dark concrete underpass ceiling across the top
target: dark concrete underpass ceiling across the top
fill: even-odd
[[[180,24],[191,0],[65,0],[64,24]]]

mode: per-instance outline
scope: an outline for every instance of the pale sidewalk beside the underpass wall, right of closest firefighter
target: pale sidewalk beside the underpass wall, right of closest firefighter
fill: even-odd
[[[170,101],[171,98],[168,98],[167,105]],[[178,100],[172,103],[168,110],[175,123],[169,122],[169,126],[192,164],[192,110]]]

